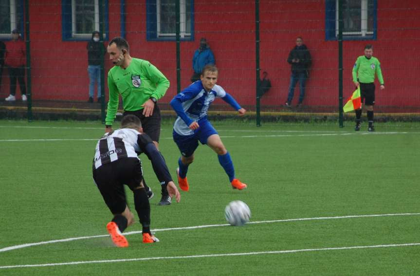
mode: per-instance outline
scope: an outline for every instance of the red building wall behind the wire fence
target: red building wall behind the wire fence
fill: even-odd
[[[149,60],[170,80],[162,102],[176,93],[176,44],[174,41],[146,40],[146,4],[126,0],[126,38],[131,55]],[[109,0],[110,37],[120,35],[119,0]],[[255,105],[256,42],[255,2],[214,0],[194,2],[195,41],[181,43],[182,88],[190,81],[192,56],[201,37],[206,37],[219,67],[219,84],[243,105]],[[382,106],[420,106],[418,87],[420,57],[420,2],[417,0],[378,1],[377,39],[344,42],[344,97],[354,89],[351,70],[365,44],[374,45],[381,61],[386,89],[377,89]],[[31,63],[34,99],[85,101],[88,97],[86,41],[63,41],[61,1],[32,0]],[[272,89],[262,105],[279,106],[286,100],[290,65],[287,56],[301,36],[312,55],[310,79],[304,104],[336,106],[338,103],[338,42],[325,40],[325,1],[260,0],[260,67],[267,71]],[[106,58],[106,71],[111,64]],[[4,79],[3,79],[4,81]],[[377,83],[378,84],[378,83]],[[107,92],[108,93],[108,92]],[[298,87],[295,89],[297,101]],[[1,96],[7,96],[3,85]]]

